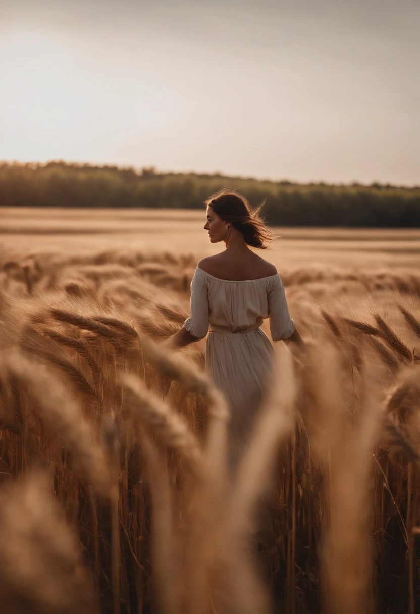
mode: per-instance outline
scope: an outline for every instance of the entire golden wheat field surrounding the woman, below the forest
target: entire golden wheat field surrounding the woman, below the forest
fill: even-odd
[[[230,478],[204,341],[160,348],[204,212],[0,215],[4,614],[420,609],[420,230],[276,229],[305,346]]]

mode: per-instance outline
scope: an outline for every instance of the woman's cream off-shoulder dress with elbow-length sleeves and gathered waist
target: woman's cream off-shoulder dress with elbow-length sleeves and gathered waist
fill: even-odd
[[[247,281],[219,279],[197,267],[185,328],[206,341],[206,370],[230,404],[230,461],[246,445],[267,376],[273,346],[260,326],[270,318],[273,341],[295,329],[279,274]]]

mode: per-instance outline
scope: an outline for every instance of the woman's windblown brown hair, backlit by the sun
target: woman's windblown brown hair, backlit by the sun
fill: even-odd
[[[273,241],[273,235],[260,217],[264,203],[251,209],[246,198],[231,188],[224,188],[204,201],[222,220],[231,223],[233,228],[244,235],[247,245],[260,249],[266,249]]]

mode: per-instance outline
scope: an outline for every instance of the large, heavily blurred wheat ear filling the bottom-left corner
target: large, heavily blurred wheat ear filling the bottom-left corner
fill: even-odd
[[[50,482],[36,471],[1,488],[1,611],[98,614],[79,538],[49,492]]]

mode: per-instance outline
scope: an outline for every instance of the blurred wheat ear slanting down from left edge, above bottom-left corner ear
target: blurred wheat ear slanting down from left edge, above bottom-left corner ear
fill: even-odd
[[[79,405],[63,384],[42,365],[15,352],[1,357],[0,368],[10,373],[35,400],[34,409],[72,453],[73,466],[103,497],[114,497],[115,486],[107,456]]]

